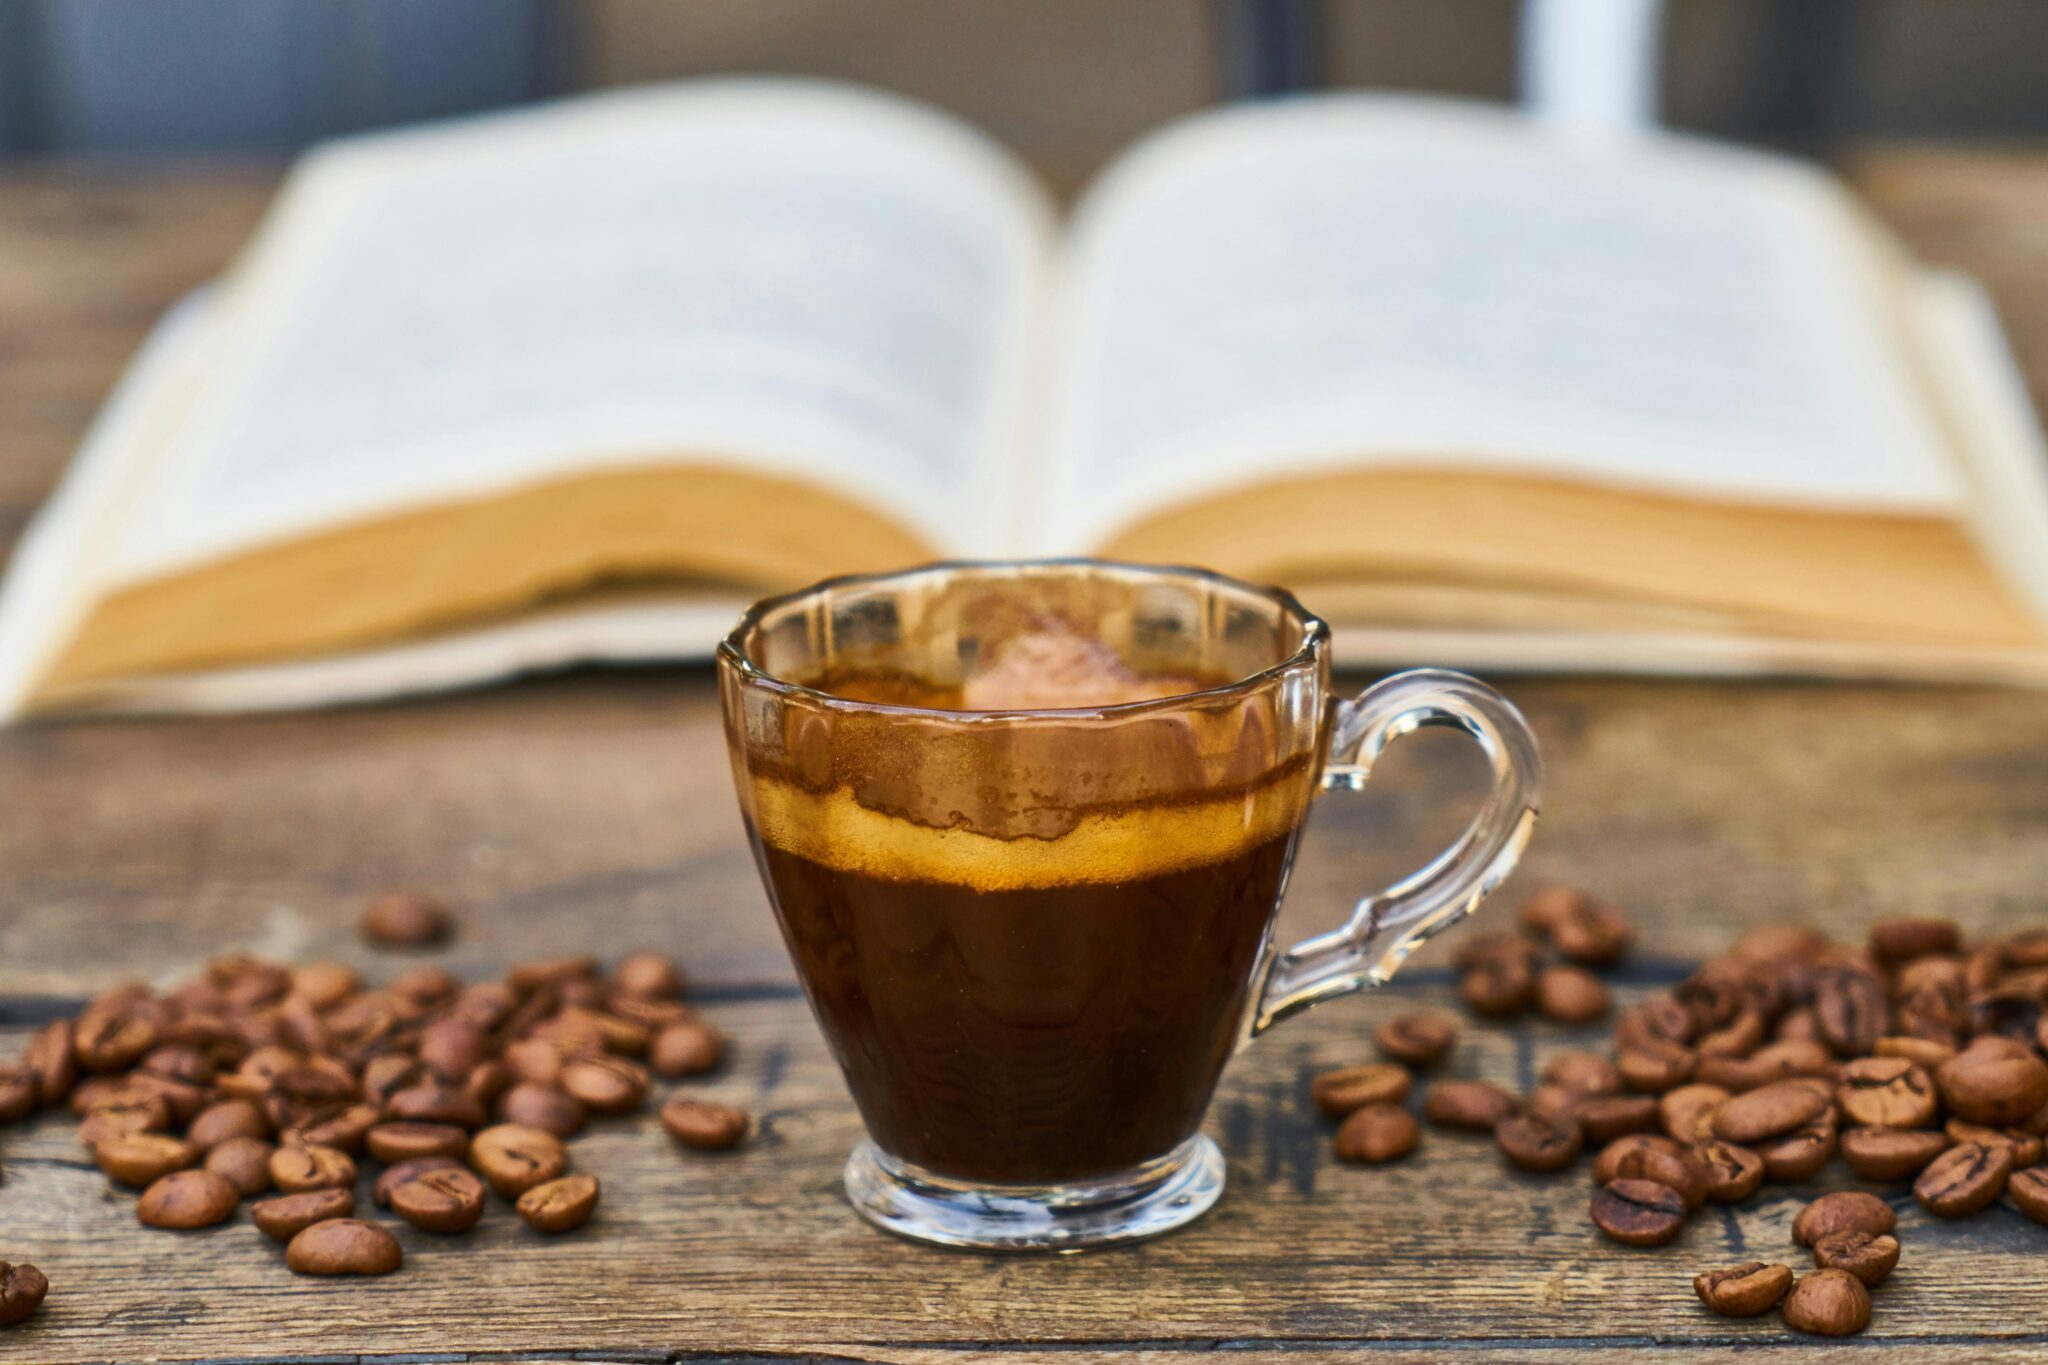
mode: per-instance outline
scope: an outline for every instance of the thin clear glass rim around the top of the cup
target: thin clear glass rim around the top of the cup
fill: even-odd
[[[852,698],[834,696],[831,692],[821,692],[819,688],[809,688],[805,684],[788,681],[786,677],[776,677],[774,673],[758,665],[748,655],[745,645],[741,643],[756,626],[760,626],[760,622],[766,616],[782,610],[784,606],[801,598],[811,598],[815,593],[834,591],[840,587],[887,583],[891,579],[909,579],[924,573],[963,571],[963,569],[981,569],[981,571],[1126,569],[1133,573],[1204,579],[1208,583],[1221,583],[1235,591],[1251,593],[1253,598],[1264,598],[1280,606],[1284,612],[1292,612],[1294,618],[1300,620],[1300,645],[1286,659],[1270,663],[1268,667],[1255,673],[1245,673],[1243,677],[1237,677],[1233,681],[1217,684],[1212,688],[1196,688],[1192,692],[1174,692],[1169,696],[1145,698],[1139,702],[1114,702],[1110,706],[1059,706],[1040,710],[946,710],[942,706],[858,702]],[[1300,600],[1294,598],[1294,593],[1290,593],[1284,587],[1278,585],[1262,587],[1257,583],[1247,583],[1227,573],[1217,573],[1214,569],[1198,569],[1194,565],[1147,565],[1128,559],[1094,559],[1090,555],[1067,555],[1053,559],[934,559],[903,569],[883,569],[879,573],[840,573],[809,583],[807,587],[797,587],[784,593],[762,598],[760,602],[750,606],[745,612],[739,614],[739,620],[733,624],[733,628],[725,632],[725,639],[719,641],[717,659],[723,667],[729,667],[733,673],[737,673],[739,679],[745,684],[766,688],[786,698],[803,698],[827,710],[926,716],[932,720],[948,720],[956,724],[975,724],[987,720],[1001,720],[1006,724],[1032,722],[1032,720],[1071,724],[1077,718],[1139,716],[1153,710],[1176,710],[1180,706],[1186,706],[1188,702],[1221,700],[1221,698],[1249,694],[1266,686],[1274,677],[1280,677],[1282,673],[1298,669],[1305,663],[1313,663],[1327,647],[1329,647],[1329,622],[1325,622],[1321,616],[1305,608]]]

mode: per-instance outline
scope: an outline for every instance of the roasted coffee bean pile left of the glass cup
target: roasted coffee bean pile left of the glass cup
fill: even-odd
[[[416,948],[449,923],[432,898],[395,892],[365,937]],[[287,1244],[289,1269],[387,1275],[403,1254],[352,1218],[358,1160],[383,1164],[375,1203],[422,1232],[475,1228],[489,1193],[539,1232],[582,1226],[598,1179],[569,1171],[565,1140],[592,1115],[637,1113],[651,1076],[721,1060],[723,1040],[680,997],[659,954],[610,976],[561,958],[473,984],[416,966],[383,988],[340,962],[221,958],[168,995],[117,986],[35,1033],[20,1064],[0,1064],[0,1126],[68,1103],[98,1166],[141,1191],[143,1224],[209,1228],[256,1199],[250,1222]],[[688,1095],[662,1121],[698,1150],[750,1130],[743,1111]],[[45,1291],[35,1267],[0,1263],[0,1326]]]

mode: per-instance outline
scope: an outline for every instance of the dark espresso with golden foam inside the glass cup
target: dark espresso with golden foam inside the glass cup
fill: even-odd
[[[883,673],[811,686],[938,710],[1204,686],[1077,667],[1071,653],[1051,671],[1057,688]],[[1049,1185],[1194,1136],[1237,1044],[1303,782],[1307,765],[1290,763],[1235,792],[1075,802],[1053,837],[1008,841],[850,810],[846,792],[760,790],[774,817],[752,831],[764,880],[874,1142],[938,1177]]]

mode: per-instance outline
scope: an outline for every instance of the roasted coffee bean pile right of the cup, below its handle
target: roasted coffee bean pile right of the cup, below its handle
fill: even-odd
[[[1585,968],[1618,962],[1628,923],[1577,890],[1544,890],[1518,933],[1468,939],[1458,995],[1487,1019],[1536,1009],[1604,1017]],[[1563,958],[1565,962],[1552,962]],[[1311,1099],[1337,1128],[1337,1156],[1407,1156],[1411,1068],[1448,1056],[1458,1025],[1401,1015],[1374,1031],[1386,1062],[1317,1076]],[[1837,1154],[1862,1179],[1909,1183],[1937,1218],[2005,1195],[2048,1224],[2048,931],[1964,945],[1944,919],[1886,919],[1862,950],[1804,925],[1765,925],[1651,993],[1614,1025],[1612,1056],[1548,1058],[1513,1097],[1489,1081],[1438,1081],[1421,1101],[1438,1128],[1491,1132],[1509,1164],[1565,1171],[1597,1146],[1591,1220],[1624,1246],[1673,1240],[1702,1203],[1796,1185]],[[1872,1193],[1815,1199],[1792,1228],[1815,1269],[1751,1263],[1694,1279],[1710,1310],[1845,1336],[1870,1324],[1870,1289],[1898,1265],[1892,1209]]]

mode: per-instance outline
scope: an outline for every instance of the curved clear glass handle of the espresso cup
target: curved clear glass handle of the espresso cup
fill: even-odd
[[[1477,677],[1415,669],[1337,702],[1323,790],[1364,790],[1380,751],[1425,724],[1450,724],[1479,741],[1493,763],[1487,804],[1430,866],[1362,898],[1341,929],[1270,956],[1247,1040],[1311,1005],[1382,984],[1417,945],[1470,915],[1522,857],[1536,827],[1542,759],[1522,712]]]

